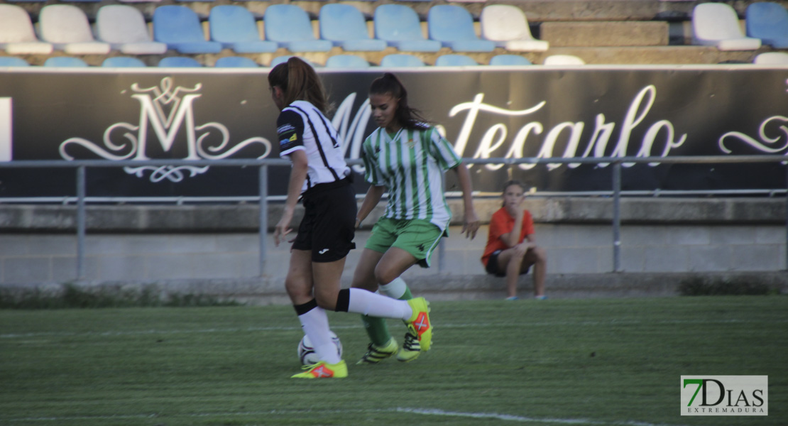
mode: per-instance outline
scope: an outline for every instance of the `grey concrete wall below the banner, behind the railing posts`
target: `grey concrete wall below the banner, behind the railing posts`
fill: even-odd
[[[597,274],[613,269],[610,198],[532,198],[527,201],[537,241],[548,252],[548,273]],[[382,203],[381,203],[382,204]],[[461,205],[452,201],[452,209]],[[485,222],[497,199],[474,202]],[[628,199],[622,202],[624,272],[775,272],[786,269],[785,200]],[[271,206],[269,223],[279,216]],[[378,208],[366,220],[374,223]],[[445,240],[444,265],[413,268],[407,276],[441,269],[481,276],[487,228],[460,235],[459,220]],[[215,280],[258,276],[256,206],[95,206],[89,209],[84,279],[91,281]],[[0,283],[63,283],[76,277],[74,209],[0,206]],[[369,235],[357,234],[362,247]],[[266,237],[266,276],[282,278],[288,249]],[[348,257],[352,275],[360,250]]]

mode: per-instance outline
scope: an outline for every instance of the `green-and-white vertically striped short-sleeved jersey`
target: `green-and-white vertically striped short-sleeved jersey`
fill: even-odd
[[[400,129],[388,135],[377,128],[362,146],[364,179],[388,189],[384,217],[423,219],[441,231],[452,212],[443,191],[443,174],[460,164],[461,158],[435,128]]]

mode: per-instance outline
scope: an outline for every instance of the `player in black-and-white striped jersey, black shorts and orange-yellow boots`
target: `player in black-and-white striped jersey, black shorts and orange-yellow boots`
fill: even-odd
[[[355,248],[355,191],[336,129],[325,117],[328,102],[310,65],[298,57],[274,67],[268,75],[277,118],[280,156],[292,162],[284,213],[273,232],[277,246],[292,231],[290,223],[299,196],[304,217],[293,240],[284,285],[303,331],[320,357],[294,378],[348,376],[336,354],[324,309],[400,318],[429,346],[432,326],[424,298],[400,301],[359,288],[340,290],[345,257]]]

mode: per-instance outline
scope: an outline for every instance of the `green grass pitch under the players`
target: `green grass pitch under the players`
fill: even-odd
[[[289,379],[289,306],[0,310],[0,424],[788,423],[784,296],[433,302],[409,364],[329,317],[344,380]],[[681,417],[682,375],[768,375],[769,416]]]

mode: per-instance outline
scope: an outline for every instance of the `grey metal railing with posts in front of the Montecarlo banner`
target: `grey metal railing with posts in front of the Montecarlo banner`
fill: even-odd
[[[621,168],[623,163],[660,163],[660,164],[742,164],[742,163],[773,163],[788,161],[786,156],[764,155],[730,155],[730,156],[683,156],[683,157],[594,157],[594,158],[464,158],[466,164],[494,164],[494,165],[537,165],[537,164],[609,164],[612,167],[611,202],[612,214],[612,250],[613,272],[621,272]],[[349,160],[351,165],[361,165],[362,161]],[[259,202],[259,274],[266,272],[266,238],[268,233],[268,168],[271,166],[289,166],[290,162],[278,158],[248,159],[248,160],[31,160],[9,161],[0,163],[0,169],[17,168],[72,168],[76,169],[76,280],[84,279],[85,255],[85,204],[86,194],[86,169],[106,167],[139,167],[139,166],[217,166],[217,167],[258,167],[258,202]],[[786,168],[786,188],[788,188],[788,168]],[[777,191],[769,190],[770,195]],[[788,246],[788,189],[786,193],[786,246]],[[15,200],[17,201],[17,200]],[[3,202],[3,198],[0,198]],[[437,273],[444,272],[445,250],[444,243],[438,249]],[[788,267],[788,250],[786,250],[786,267]]]

